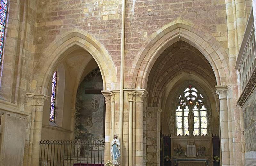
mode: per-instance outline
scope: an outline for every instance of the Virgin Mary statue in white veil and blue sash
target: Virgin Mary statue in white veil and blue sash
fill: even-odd
[[[117,139],[117,135],[114,135],[114,139],[111,142],[111,157],[114,166],[120,165],[120,142]]]

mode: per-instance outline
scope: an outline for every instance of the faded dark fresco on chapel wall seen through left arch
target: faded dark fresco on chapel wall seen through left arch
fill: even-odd
[[[102,138],[104,97],[100,69],[94,69],[80,83],[76,96],[75,139]]]

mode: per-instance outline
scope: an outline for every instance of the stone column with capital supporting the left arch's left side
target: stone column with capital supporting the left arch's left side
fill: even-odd
[[[32,166],[39,165],[39,154],[42,124],[43,124],[43,107],[44,101],[49,97],[46,95],[35,95],[35,121],[34,121],[34,134],[33,134],[33,145],[32,145]]]

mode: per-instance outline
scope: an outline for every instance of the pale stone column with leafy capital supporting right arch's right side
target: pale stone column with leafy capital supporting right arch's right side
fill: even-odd
[[[229,152],[229,130],[228,130],[228,102],[227,102],[227,87],[215,86],[216,94],[219,95],[220,102],[220,140],[222,165],[230,166]]]

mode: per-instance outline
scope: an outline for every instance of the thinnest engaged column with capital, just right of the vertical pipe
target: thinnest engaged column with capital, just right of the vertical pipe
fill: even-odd
[[[132,109],[133,96],[135,93],[128,93],[129,96],[129,165],[132,165]]]

